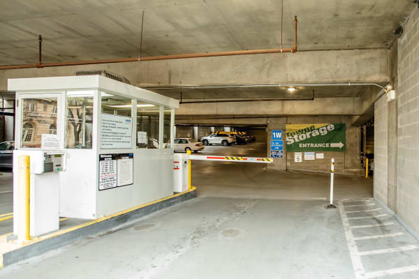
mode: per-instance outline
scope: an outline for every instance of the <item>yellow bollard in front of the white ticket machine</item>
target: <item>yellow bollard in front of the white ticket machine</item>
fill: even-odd
[[[30,199],[30,183],[31,183],[31,174],[30,174],[30,164],[31,160],[29,156],[19,156],[19,164],[18,166],[18,174],[17,174],[17,194],[19,199],[17,204],[19,206],[18,211],[18,227],[17,227],[17,239],[20,243],[24,243],[31,239],[30,236],[30,206],[29,206],[29,199]]]

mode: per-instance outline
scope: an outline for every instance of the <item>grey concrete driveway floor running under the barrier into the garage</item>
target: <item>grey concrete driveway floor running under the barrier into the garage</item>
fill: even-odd
[[[204,153],[260,156],[264,148]],[[0,278],[419,278],[418,241],[366,200],[372,181],[337,176],[337,198],[360,202],[326,210],[329,179],[193,161],[196,199],[8,266]],[[357,263],[365,276],[356,277]]]

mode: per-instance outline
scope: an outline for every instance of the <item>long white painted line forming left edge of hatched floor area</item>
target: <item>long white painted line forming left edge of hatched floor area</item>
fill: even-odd
[[[348,217],[346,216],[344,210],[344,202],[339,201],[339,213],[341,215],[342,223],[344,224],[344,230],[346,235],[346,242],[348,243],[349,254],[351,255],[352,267],[355,272],[357,279],[365,278],[365,269],[362,265],[361,256],[359,255],[358,246],[353,239],[353,234],[351,231],[351,225],[349,224]]]

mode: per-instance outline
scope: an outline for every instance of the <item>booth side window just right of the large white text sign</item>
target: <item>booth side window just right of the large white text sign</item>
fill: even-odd
[[[159,148],[160,107],[137,102],[137,148]]]

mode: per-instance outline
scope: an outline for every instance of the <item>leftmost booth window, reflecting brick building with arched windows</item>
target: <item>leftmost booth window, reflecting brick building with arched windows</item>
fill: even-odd
[[[50,126],[57,127],[57,97],[22,98],[22,142],[24,148],[41,148],[43,134],[50,134]],[[57,134],[57,129],[55,129]]]

